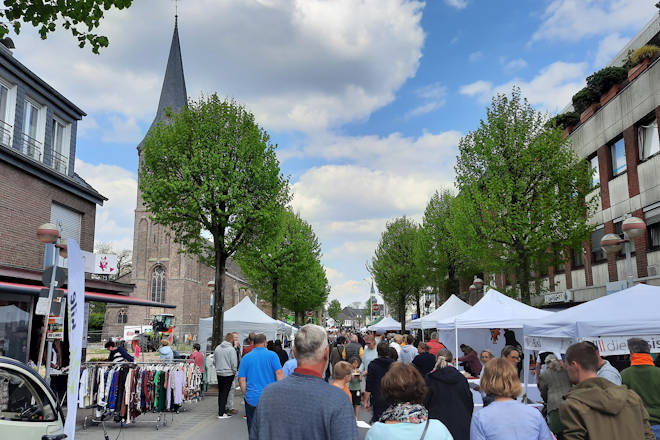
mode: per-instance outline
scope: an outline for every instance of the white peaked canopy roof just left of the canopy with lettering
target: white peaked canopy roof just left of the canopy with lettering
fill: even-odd
[[[471,309],[455,318],[438,320],[439,329],[522,328],[524,323],[553,315],[552,312],[530,307],[490,289]]]

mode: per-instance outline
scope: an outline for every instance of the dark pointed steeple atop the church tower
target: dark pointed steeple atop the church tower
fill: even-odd
[[[165,118],[165,109],[170,107],[175,113],[188,103],[188,94],[186,93],[186,79],[183,75],[183,61],[181,59],[181,45],[179,44],[179,17],[174,16],[174,33],[172,34],[172,44],[170,45],[170,55],[167,58],[167,68],[165,69],[165,78],[163,78],[163,87],[160,90],[160,99],[156,109],[156,117],[151,123],[147,135],[151,129]],[[138,145],[138,150],[142,149],[144,140]]]

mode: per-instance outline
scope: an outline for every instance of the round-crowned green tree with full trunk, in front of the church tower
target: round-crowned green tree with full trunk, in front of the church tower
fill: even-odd
[[[168,117],[145,141],[140,190],[152,219],[171,229],[182,252],[215,267],[216,346],[225,263],[277,224],[288,181],[268,133],[237,102],[213,94]]]

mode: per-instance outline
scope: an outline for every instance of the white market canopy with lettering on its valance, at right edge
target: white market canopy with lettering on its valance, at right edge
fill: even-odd
[[[638,284],[526,323],[525,346],[564,352],[580,338],[657,336],[659,310],[660,287]],[[604,351],[602,348],[606,347],[601,347]]]

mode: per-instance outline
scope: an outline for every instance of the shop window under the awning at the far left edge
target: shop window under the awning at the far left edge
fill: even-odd
[[[0,356],[27,362],[32,298],[24,295],[0,296]]]

